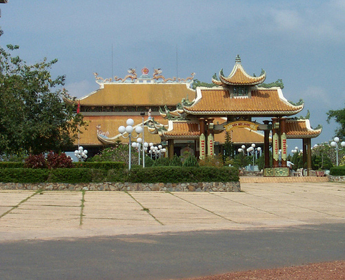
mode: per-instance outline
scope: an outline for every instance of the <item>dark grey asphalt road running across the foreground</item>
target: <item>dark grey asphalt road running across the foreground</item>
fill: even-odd
[[[182,279],[345,259],[345,224],[0,243],[0,279]]]

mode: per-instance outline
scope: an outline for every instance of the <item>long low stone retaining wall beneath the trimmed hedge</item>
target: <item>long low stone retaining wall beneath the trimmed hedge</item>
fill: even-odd
[[[0,183],[1,190],[30,190],[30,191],[224,191],[239,192],[239,182],[199,182],[199,183],[177,183],[177,184],[141,184],[141,183]]]

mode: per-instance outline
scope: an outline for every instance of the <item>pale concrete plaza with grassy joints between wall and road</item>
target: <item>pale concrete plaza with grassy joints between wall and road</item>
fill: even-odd
[[[345,223],[345,184],[241,193],[0,191],[0,241]]]

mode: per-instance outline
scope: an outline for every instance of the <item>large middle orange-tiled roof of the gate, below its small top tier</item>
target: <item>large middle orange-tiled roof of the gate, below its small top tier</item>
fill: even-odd
[[[228,89],[201,89],[201,96],[184,110],[193,115],[290,116],[302,111],[303,107],[288,103],[279,88],[255,89],[251,97],[244,98],[230,98]]]

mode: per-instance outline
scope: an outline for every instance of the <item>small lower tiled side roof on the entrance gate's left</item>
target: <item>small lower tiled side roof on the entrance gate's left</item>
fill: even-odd
[[[170,129],[170,127],[169,127]],[[167,139],[174,138],[193,138],[200,136],[199,124],[197,122],[172,122],[172,130],[164,131],[163,136]]]

